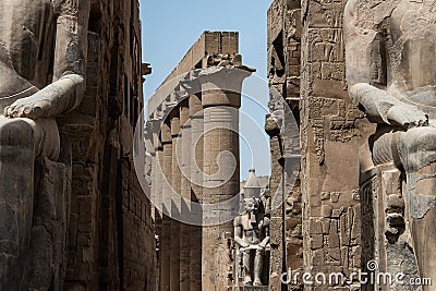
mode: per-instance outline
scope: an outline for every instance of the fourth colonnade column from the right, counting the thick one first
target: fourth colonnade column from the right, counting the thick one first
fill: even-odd
[[[180,194],[181,173],[177,158],[177,143],[180,143],[180,112],[174,108],[171,117],[171,137],[172,137],[172,175],[171,186],[175,194]],[[170,240],[170,288],[171,291],[180,290],[180,221],[174,218],[180,217],[181,199],[178,196],[171,199],[171,240]]]

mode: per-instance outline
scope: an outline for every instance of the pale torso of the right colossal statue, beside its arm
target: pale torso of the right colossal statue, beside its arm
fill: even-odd
[[[436,1],[400,1],[388,29],[389,92],[424,107],[436,106]]]

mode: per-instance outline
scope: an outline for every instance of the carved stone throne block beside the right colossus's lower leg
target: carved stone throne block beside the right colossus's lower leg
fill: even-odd
[[[419,278],[408,215],[404,213],[403,187],[401,172],[392,163],[377,166],[361,174],[362,229],[367,234],[362,237],[363,271],[370,271],[366,264],[375,260],[378,264],[374,271],[376,278],[380,272],[390,274],[393,278],[392,284],[375,282],[362,286],[362,290],[421,290],[395,280],[400,272],[404,274],[404,282]]]

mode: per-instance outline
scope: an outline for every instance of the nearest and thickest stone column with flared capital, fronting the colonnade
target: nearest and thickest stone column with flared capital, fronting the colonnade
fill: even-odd
[[[240,191],[238,109],[241,107],[242,82],[249,75],[250,72],[242,70],[210,68],[204,71],[201,78],[204,108],[204,204],[228,201]],[[234,163],[226,158],[218,165],[218,159],[228,154],[234,157]],[[238,206],[239,203],[235,203]],[[232,233],[232,221],[203,227],[203,290],[228,290],[231,286],[231,250],[228,242]]]

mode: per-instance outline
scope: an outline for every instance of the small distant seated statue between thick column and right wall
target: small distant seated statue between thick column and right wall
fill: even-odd
[[[242,256],[243,283],[246,286],[263,284],[261,275],[265,247],[269,243],[269,218],[259,211],[259,198],[244,198],[245,211],[233,221],[234,242],[239,245],[238,258]],[[254,262],[253,268],[251,262]]]

